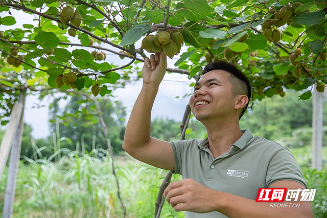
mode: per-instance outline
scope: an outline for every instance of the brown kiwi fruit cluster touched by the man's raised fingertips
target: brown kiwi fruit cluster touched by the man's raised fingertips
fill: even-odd
[[[148,35],[142,40],[142,48],[150,53],[164,52],[172,58],[180,52],[181,44],[184,41],[179,31],[161,31],[155,35]]]

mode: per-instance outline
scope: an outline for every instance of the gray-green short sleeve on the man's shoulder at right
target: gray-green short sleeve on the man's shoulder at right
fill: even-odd
[[[308,188],[296,159],[285,146],[279,147],[271,156],[267,169],[266,187],[281,180],[295,181]]]

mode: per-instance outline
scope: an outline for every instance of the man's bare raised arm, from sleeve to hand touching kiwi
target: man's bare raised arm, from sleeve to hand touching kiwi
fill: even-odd
[[[167,57],[163,52],[145,59],[143,86],[127,123],[123,149],[139,161],[175,170],[174,151],[170,143],[150,136],[151,110],[166,68]]]

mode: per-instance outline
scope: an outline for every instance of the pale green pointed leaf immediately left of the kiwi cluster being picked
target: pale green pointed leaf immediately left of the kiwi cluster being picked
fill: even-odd
[[[148,32],[150,29],[151,29],[150,24],[135,25],[134,27],[132,27],[125,33],[120,45],[127,46],[127,45],[133,44],[135,41],[140,39],[143,36],[143,34]]]

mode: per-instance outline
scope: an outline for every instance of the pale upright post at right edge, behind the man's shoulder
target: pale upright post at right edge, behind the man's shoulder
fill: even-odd
[[[321,170],[322,150],[322,99],[323,94],[313,89],[313,114],[312,114],[312,168]]]

